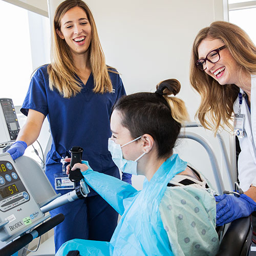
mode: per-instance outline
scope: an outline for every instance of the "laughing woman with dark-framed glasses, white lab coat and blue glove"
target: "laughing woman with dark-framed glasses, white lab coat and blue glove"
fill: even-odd
[[[217,225],[256,210],[256,47],[238,26],[214,22],[194,41],[190,83],[201,95],[196,116],[206,129],[239,138],[240,197],[217,196]]]

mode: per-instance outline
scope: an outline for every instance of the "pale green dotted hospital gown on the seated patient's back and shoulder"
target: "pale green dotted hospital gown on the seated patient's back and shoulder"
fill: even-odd
[[[183,175],[174,179],[179,176]],[[167,187],[159,205],[164,229],[177,256],[216,255],[219,249],[215,199],[200,178],[203,182]]]

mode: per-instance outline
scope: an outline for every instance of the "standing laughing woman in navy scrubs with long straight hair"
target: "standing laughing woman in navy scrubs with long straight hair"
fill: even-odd
[[[108,151],[108,138],[112,106],[122,95],[122,80],[105,64],[89,7],[80,0],[62,2],[54,15],[51,63],[37,69],[31,79],[20,110],[28,118],[8,152],[13,159],[23,155],[27,145],[37,139],[47,117],[53,142],[46,175],[57,193],[72,190],[57,189],[55,184],[65,179],[61,159],[70,157],[72,146],[83,148],[82,157],[89,159],[95,170],[120,179]],[[123,180],[131,182],[131,175],[123,175]],[[51,215],[59,212],[65,215],[65,221],[54,230],[56,250],[74,238],[110,241],[117,225],[117,212],[95,191],[52,210]]]

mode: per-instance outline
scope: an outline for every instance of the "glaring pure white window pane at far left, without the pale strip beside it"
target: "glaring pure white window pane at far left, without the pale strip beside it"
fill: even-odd
[[[1,98],[12,98],[20,105],[32,73],[28,12],[0,1],[2,25],[1,47]]]

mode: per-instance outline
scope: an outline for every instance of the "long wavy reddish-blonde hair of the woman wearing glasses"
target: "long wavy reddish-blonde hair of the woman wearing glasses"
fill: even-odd
[[[233,114],[233,103],[239,88],[235,84],[221,86],[214,78],[199,70],[195,63],[198,60],[198,47],[204,39],[220,39],[236,60],[241,79],[242,71],[256,74],[256,47],[249,36],[240,27],[228,22],[214,22],[199,31],[193,44],[190,61],[190,83],[201,95],[201,103],[196,113],[200,123],[206,129],[217,134],[220,127],[232,130],[230,119]]]

